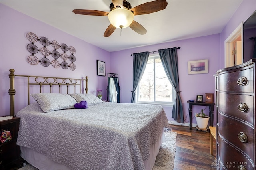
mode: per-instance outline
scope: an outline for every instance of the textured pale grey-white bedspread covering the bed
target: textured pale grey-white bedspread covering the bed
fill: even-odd
[[[18,145],[72,170],[143,170],[150,146],[170,128],[159,105],[104,102],[44,113],[32,103],[16,116]]]

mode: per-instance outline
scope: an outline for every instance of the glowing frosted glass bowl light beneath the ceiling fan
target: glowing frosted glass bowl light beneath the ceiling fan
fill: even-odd
[[[108,14],[108,20],[116,28],[126,28],[132,24],[133,14],[125,8],[117,8]]]

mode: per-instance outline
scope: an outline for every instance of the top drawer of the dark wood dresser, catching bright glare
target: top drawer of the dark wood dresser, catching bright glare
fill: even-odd
[[[247,79],[246,85],[238,85],[238,81]],[[231,73],[220,74],[219,77],[219,90],[220,91],[238,91],[254,93],[253,90],[253,68],[234,71]]]

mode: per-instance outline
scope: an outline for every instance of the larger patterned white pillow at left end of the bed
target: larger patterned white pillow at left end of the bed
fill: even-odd
[[[76,100],[68,94],[60,93],[36,93],[31,96],[40,105],[44,112],[72,109],[77,103]]]

